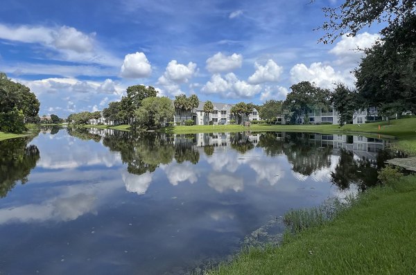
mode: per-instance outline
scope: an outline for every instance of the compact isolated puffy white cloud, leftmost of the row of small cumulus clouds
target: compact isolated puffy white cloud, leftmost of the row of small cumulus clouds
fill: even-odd
[[[144,53],[125,55],[120,73],[123,78],[147,78],[151,73],[152,66]]]

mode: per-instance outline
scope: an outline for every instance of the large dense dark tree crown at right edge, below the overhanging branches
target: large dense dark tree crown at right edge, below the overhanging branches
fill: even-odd
[[[355,71],[356,87],[368,105],[381,107],[401,100],[416,112],[416,15],[365,51]]]

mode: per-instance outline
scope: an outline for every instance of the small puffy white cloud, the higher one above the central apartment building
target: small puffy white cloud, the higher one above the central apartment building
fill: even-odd
[[[233,53],[232,55],[224,55],[216,53],[207,59],[207,70],[211,73],[224,73],[240,68],[243,64],[243,56]]]

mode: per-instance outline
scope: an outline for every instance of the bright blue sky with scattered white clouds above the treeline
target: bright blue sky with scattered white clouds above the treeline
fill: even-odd
[[[40,116],[96,111],[130,85],[159,95],[261,104],[302,80],[354,86],[354,69],[378,37],[318,44],[324,6],[292,1],[19,1],[0,9],[0,71],[31,88]]]

